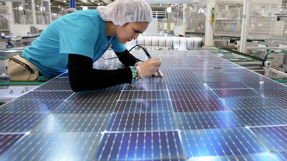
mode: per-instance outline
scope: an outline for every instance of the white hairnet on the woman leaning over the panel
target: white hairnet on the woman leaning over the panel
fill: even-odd
[[[144,0],[116,0],[106,6],[98,6],[97,10],[104,21],[112,21],[115,25],[152,21],[152,9]]]

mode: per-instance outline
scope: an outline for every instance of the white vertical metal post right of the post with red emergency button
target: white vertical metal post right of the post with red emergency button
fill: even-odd
[[[243,53],[246,53],[246,42],[247,42],[248,32],[249,32],[250,7],[251,7],[251,1],[244,0],[241,37],[240,37],[240,48],[239,48],[239,51]]]

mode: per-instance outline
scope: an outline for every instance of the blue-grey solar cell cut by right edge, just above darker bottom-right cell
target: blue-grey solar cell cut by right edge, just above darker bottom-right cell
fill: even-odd
[[[286,109],[234,110],[233,113],[247,126],[287,124]]]

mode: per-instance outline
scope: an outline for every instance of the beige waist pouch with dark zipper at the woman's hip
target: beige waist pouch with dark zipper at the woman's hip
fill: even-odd
[[[35,81],[39,76],[38,68],[19,55],[10,58],[7,71],[12,81]]]

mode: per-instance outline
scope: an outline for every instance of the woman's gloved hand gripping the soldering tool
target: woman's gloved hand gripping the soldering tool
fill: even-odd
[[[152,76],[158,71],[160,65],[161,61],[158,58],[150,58],[139,63],[136,66],[139,72],[139,78],[144,80],[145,78]]]

